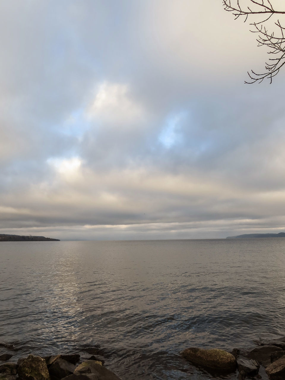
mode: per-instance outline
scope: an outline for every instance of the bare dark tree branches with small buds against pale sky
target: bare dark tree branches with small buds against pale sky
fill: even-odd
[[[285,64],[285,38],[283,33],[285,27],[283,27],[280,24],[279,19],[277,19],[272,25],[272,27],[275,25],[275,28],[279,30],[279,36],[276,36],[274,35],[274,31],[269,32],[264,24],[269,22],[272,16],[274,17],[280,14],[285,15],[285,10],[275,9],[272,5],[272,0],[247,0],[247,6],[241,5],[240,0],[235,0],[234,3],[235,5],[233,5],[233,1],[231,0],[223,0],[224,9],[231,12],[235,17],[235,20],[244,16],[244,22],[246,22],[248,17],[254,17],[254,15],[261,15],[262,17],[264,15],[261,21],[250,23],[250,25],[253,26],[253,30],[250,31],[258,33],[258,38],[256,39],[258,43],[257,46],[266,46],[268,48],[268,54],[279,54],[279,57],[277,58],[269,58],[269,61],[274,61],[274,63],[265,63],[266,71],[264,73],[257,74],[253,70],[251,70],[250,73],[248,72],[251,80],[248,82],[245,81],[245,83],[262,82],[265,78],[269,79],[270,83],[272,83],[272,78],[279,73],[280,68]]]

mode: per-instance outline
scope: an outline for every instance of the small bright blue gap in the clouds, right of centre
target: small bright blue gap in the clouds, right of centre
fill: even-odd
[[[163,126],[158,141],[167,149],[180,144],[183,140],[181,132],[181,125],[185,120],[188,112],[182,111],[171,114],[166,118],[165,125]]]

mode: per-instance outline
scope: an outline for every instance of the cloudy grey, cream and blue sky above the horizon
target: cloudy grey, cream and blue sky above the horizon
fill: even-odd
[[[0,1],[0,233],[285,231],[285,70],[221,0]]]

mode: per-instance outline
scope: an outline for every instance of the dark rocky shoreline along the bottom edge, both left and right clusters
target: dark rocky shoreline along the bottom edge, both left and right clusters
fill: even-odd
[[[217,348],[189,347],[181,356],[192,366],[207,370],[212,377],[233,374],[238,380],[262,378],[285,380],[285,337],[256,340],[248,350],[234,348],[231,352]],[[6,353],[0,355],[0,380],[120,380],[104,366],[98,348],[86,350],[98,356],[82,358],[78,353],[51,356],[28,355],[13,361],[13,345],[0,343]],[[90,351],[91,350],[91,351]],[[189,376],[191,378],[191,376]]]

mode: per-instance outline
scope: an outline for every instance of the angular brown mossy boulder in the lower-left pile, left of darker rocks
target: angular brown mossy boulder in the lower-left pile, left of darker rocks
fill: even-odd
[[[18,360],[18,375],[22,380],[50,380],[46,361],[40,356],[29,355]]]

